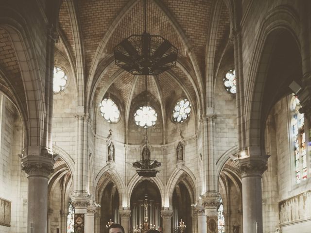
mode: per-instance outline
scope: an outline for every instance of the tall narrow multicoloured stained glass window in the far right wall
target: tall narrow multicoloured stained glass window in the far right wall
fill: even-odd
[[[301,107],[297,97],[292,100],[292,137],[294,142],[294,161],[296,183],[307,179],[307,158],[306,158],[306,134],[304,130],[304,115],[299,113]]]

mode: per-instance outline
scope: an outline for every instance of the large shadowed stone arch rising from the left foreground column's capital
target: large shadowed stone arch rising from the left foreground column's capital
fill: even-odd
[[[36,110],[29,111],[30,109],[27,109],[27,118],[32,120],[29,120],[25,133],[28,137],[29,144],[35,146],[30,153],[40,154],[41,151],[37,146],[48,145],[41,145],[43,144],[41,141],[43,135],[43,126],[41,122],[44,122],[43,115],[45,109],[41,96],[41,93],[43,93],[43,85],[38,74],[38,70],[40,69],[38,68],[38,61],[35,58],[34,45],[30,39],[32,36],[27,27],[26,20],[8,7],[2,7],[0,9],[0,27],[10,35],[15,48],[27,106],[31,108],[31,110]],[[29,145],[25,145],[27,154],[28,146]]]

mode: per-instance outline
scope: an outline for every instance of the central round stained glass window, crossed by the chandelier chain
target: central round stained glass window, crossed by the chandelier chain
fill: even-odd
[[[135,123],[143,128],[154,126],[157,119],[157,113],[151,106],[141,106],[134,114]]]

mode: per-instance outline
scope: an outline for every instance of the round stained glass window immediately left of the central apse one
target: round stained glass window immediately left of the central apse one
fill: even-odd
[[[104,98],[99,104],[102,116],[109,123],[116,123],[120,119],[118,105],[111,99]]]

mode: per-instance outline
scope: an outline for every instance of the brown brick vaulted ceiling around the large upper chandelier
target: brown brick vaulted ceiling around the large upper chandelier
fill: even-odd
[[[73,33],[74,23],[70,20],[69,14],[72,13],[69,1],[64,0],[59,13],[59,28],[62,33],[64,45],[56,45],[56,49],[65,53],[67,47],[73,63],[76,62],[76,48]],[[79,33],[82,40],[83,60],[85,67],[85,77],[89,78],[90,69],[94,62],[96,50],[101,45],[106,34],[111,33],[111,24],[120,19],[118,24],[113,27],[113,32],[104,44],[103,52],[100,54],[102,59],[113,53],[113,48],[122,39],[131,34],[143,32],[143,1],[134,1],[128,9],[129,0],[77,0],[74,1],[76,17],[79,24]],[[147,31],[151,34],[159,34],[168,39],[179,50],[179,57],[187,64],[190,64],[190,72],[195,74],[193,63],[190,59],[189,49],[195,56],[196,63],[202,74],[205,74],[205,64],[207,63],[206,47],[209,33],[211,9],[214,4],[212,0],[148,0],[148,27]],[[166,12],[160,9],[166,8]],[[120,13],[125,12],[125,14]],[[173,26],[172,18],[177,22],[178,29]],[[215,62],[219,62],[225,41],[229,32],[229,14],[225,4],[221,8],[220,23],[216,30],[215,42]],[[177,32],[179,30],[179,32]],[[182,33],[180,33],[182,32]],[[181,37],[181,34],[185,38]],[[187,44],[186,44],[187,42]],[[120,77],[113,79],[119,74]],[[172,75],[173,74],[173,75]],[[175,76],[175,77],[173,77]],[[112,81],[113,79],[113,81]],[[119,68],[111,65],[105,69],[96,81],[94,103],[100,101],[104,94],[109,91],[118,93],[118,98],[122,103],[127,103],[129,99],[134,99],[142,91],[144,85],[141,78],[134,82],[134,76],[126,72],[120,72]],[[194,77],[190,81],[189,75],[179,68],[174,67],[172,73],[159,75],[156,80],[148,78],[148,91],[157,99],[162,100],[168,107],[170,101],[181,96],[192,100],[192,105],[197,103],[196,91],[199,89],[200,77]],[[203,78],[204,79],[204,78]],[[86,82],[85,82],[86,83]],[[133,84],[135,85],[133,86]],[[108,86],[107,86],[108,85]],[[176,90],[182,90],[176,93]],[[131,95],[132,93],[132,95]]]

